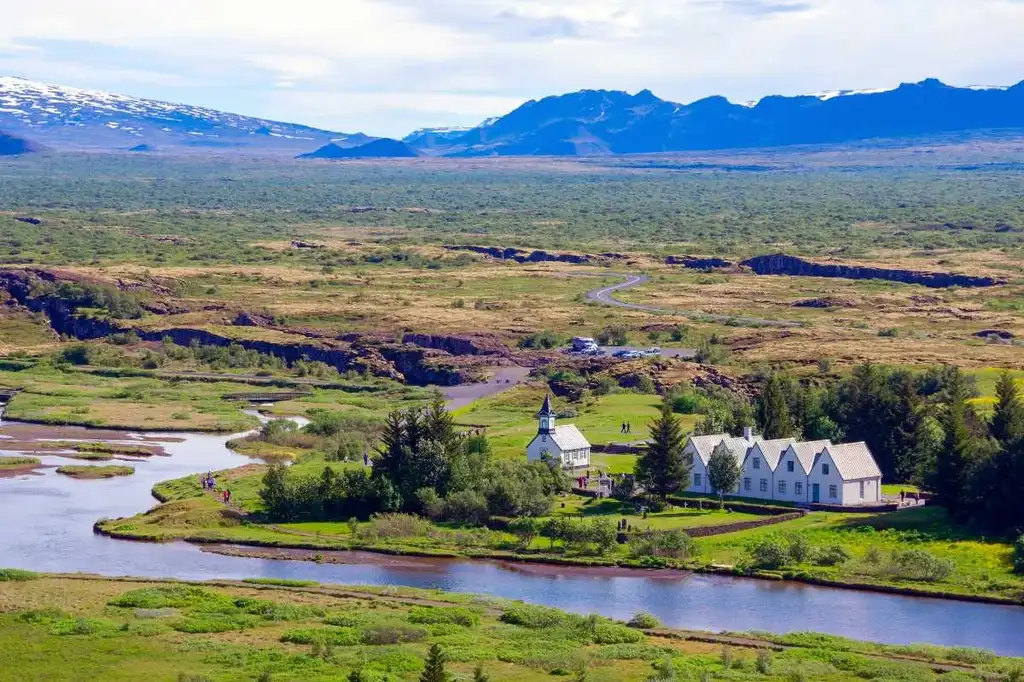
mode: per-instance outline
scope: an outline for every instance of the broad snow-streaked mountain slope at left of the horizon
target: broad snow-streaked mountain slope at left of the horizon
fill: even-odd
[[[0,130],[53,148],[295,151],[366,135],[0,76]]]

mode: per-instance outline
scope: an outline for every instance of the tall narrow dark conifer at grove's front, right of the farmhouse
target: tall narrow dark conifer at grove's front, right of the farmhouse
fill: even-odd
[[[945,438],[936,458],[932,489],[937,501],[954,516],[963,516],[968,504],[969,477],[974,464],[976,442],[971,432],[968,386],[956,372],[950,378],[942,429]]]

